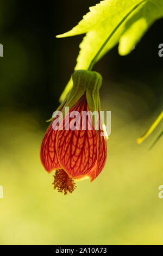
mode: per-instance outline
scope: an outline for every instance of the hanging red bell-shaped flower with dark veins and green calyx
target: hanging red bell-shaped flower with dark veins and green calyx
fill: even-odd
[[[54,189],[65,194],[76,188],[74,179],[95,180],[106,161],[106,136],[99,115],[102,77],[97,72],[77,70],[72,78],[73,88],[57,109],[60,112],[55,112],[40,153],[47,172],[56,170]],[[66,107],[70,112],[64,113]]]

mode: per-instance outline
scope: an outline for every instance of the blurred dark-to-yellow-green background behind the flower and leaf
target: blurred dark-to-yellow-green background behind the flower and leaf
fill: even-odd
[[[117,46],[96,64],[103,76],[102,109],[111,111],[108,158],[101,175],[77,183],[73,194],[53,190],[53,174],[40,163],[46,120],[58,107],[83,35],[56,39],[95,0],[0,2],[0,199],[1,245],[163,244],[163,138],[158,129],[136,144],[161,112],[163,20],[135,50]]]

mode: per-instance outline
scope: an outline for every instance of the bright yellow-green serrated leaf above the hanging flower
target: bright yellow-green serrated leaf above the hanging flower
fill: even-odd
[[[142,3],[141,3],[142,2]],[[87,69],[93,57],[95,57],[99,48],[103,45],[106,38],[120,23],[124,16],[136,5],[141,5],[133,11],[125,22],[117,29],[116,33],[109,40],[99,60],[106,52],[120,42],[118,51],[121,55],[130,53],[133,46],[139,42],[143,34],[153,24],[154,21],[163,17],[163,1],[161,0],[104,0],[90,7],[83,20],[71,31],[58,35],[58,38],[84,34],[82,43],[80,44],[80,52],[77,58],[77,69]],[[60,100],[64,100],[66,94],[72,88],[72,80],[70,80],[61,95]]]

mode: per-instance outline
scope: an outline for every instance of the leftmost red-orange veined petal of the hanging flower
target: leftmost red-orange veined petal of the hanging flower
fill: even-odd
[[[56,152],[56,138],[57,138],[57,130],[53,130],[52,123],[49,125],[48,130],[43,137],[43,141],[41,144],[40,157],[41,162],[47,172],[52,172],[54,169],[59,169],[60,164],[57,158]]]

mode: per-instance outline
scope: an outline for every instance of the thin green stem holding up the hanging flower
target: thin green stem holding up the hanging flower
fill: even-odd
[[[108,38],[105,40],[104,44],[101,46],[101,48],[98,50],[98,52],[96,53],[95,57],[92,59],[88,70],[91,71],[93,68],[93,65],[96,63],[97,58],[99,56],[99,54],[102,52],[103,48],[106,46],[106,44],[108,44],[108,41],[111,39],[111,37],[114,35],[114,33],[117,31],[117,29],[122,25],[122,23],[128,18],[128,16],[133,13],[134,10],[136,10],[143,2],[146,2],[147,0],[143,0],[141,1],[139,4],[136,4],[134,6],[133,9],[131,9],[129,11],[129,13],[123,17],[123,19],[120,21],[120,23],[118,23],[118,25],[115,27],[115,29],[111,32],[111,34],[108,36]]]

